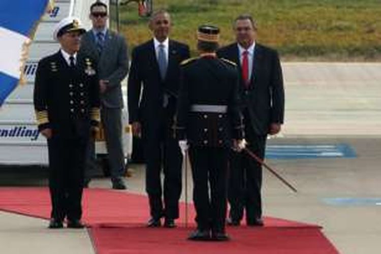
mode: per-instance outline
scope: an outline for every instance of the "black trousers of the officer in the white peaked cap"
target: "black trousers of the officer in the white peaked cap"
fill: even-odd
[[[51,217],[77,220],[82,216],[84,160],[88,138],[48,139]]]

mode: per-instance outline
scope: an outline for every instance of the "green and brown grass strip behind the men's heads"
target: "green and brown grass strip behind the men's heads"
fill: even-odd
[[[187,43],[193,54],[200,24],[219,26],[221,45],[227,45],[234,41],[234,18],[250,13],[258,22],[258,42],[284,59],[381,59],[379,0],[155,0],[154,8],[170,11],[171,38]],[[122,6],[120,18],[132,48],[151,38],[136,4]]]

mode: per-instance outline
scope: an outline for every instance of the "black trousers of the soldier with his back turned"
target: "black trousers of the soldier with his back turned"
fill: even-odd
[[[192,165],[193,201],[197,212],[198,229],[224,232],[228,149],[190,147],[189,158]]]

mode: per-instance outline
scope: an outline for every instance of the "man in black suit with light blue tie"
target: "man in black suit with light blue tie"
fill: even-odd
[[[129,116],[134,136],[141,136],[146,162],[146,191],[151,218],[148,227],[175,227],[181,194],[180,149],[173,135],[180,62],[189,57],[187,45],[168,38],[167,11],[155,12],[149,22],[154,38],[132,52],[128,81]],[[141,89],[143,86],[143,89]],[[164,205],[161,169],[164,171]]]

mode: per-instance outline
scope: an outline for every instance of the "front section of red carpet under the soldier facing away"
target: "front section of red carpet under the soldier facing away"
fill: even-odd
[[[190,229],[91,228],[90,235],[99,254],[142,253],[287,253],[336,254],[318,228],[228,228],[229,242],[186,240]]]

